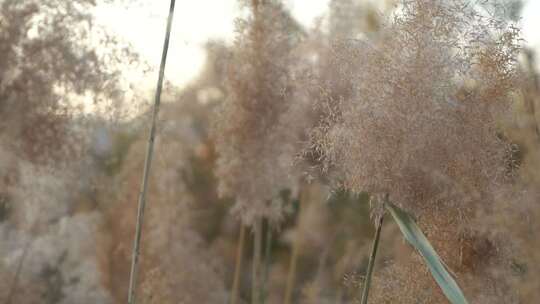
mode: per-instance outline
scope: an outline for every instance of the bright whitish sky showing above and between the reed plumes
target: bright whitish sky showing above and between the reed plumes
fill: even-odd
[[[306,26],[325,13],[329,0],[286,0],[293,15]],[[160,62],[165,22],[170,0],[140,0],[126,7],[108,5],[97,10],[98,21],[131,43],[153,67]],[[236,0],[177,0],[174,27],[167,61],[166,78],[185,85],[195,77],[205,59],[208,39],[233,38]],[[540,49],[540,0],[529,0],[523,13],[523,34],[527,44]],[[155,71],[154,71],[155,73]],[[146,77],[155,77],[150,73]],[[143,80],[143,79],[141,79]],[[145,82],[154,85],[153,82]],[[149,88],[150,89],[150,88]]]

